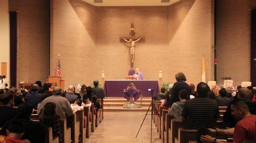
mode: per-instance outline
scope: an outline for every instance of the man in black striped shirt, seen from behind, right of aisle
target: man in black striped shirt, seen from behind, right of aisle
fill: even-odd
[[[197,85],[198,96],[185,102],[182,110],[182,121],[189,121],[189,129],[213,128],[220,116],[218,104],[215,100],[207,98],[209,86],[200,82]]]

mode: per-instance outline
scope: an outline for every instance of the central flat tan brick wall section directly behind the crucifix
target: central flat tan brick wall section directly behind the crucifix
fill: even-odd
[[[167,6],[124,6],[96,7],[96,78],[124,79],[130,64],[130,44],[119,37],[130,36],[134,23],[135,36],[145,36],[145,40],[135,43],[134,69],[139,68],[143,79],[157,80],[163,70],[163,79],[168,81],[172,57],[168,47],[168,7]],[[168,77],[168,78],[167,78]]]

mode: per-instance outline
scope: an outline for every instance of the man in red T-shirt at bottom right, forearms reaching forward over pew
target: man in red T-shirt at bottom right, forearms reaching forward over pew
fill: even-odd
[[[256,140],[256,115],[250,114],[249,107],[243,99],[236,99],[230,104],[232,115],[238,120],[235,128],[209,129],[216,135],[233,135],[233,143],[242,143],[244,140]],[[203,143],[224,143],[213,139],[209,135],[201,135]]]

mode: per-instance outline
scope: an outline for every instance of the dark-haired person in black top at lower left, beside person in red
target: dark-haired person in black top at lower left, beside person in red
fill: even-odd
[[[21,121],[25,124],[25,133],[21,140],[28,139],[31,143],[44,143],[47,127],[39,122],[30,120],[29,116],[33,112],[32,104],[24,102],[18,107],[18,114],[13,120]],[[6,135],[6,129],[13,120],[7,121],[0,130],[0,135]]]

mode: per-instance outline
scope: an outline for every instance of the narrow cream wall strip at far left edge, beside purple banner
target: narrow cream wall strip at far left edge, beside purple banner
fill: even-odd
[[[10,79],[10,33],[8,10],[8,0],[0,0],[0,62],[7,62],[6,82],[9,82]]]

